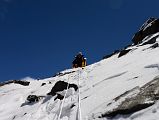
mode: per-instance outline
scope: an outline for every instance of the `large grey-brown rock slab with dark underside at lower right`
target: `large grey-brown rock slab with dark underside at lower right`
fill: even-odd
[[[105,112],[99,117],[115,117],[119,114],[132,114],[134,112],[152,106],[156,103],[157,100],[159,100],[159,78],[155,78],[141,88],[132,89],[132,92],[136,89],[139,90],[138,93],[133,96],[127,97],[122,102],[120,102],[120,104],[116,108]],[[122,96],[128,96],[130,92],[131,90],[120,95],[115,99],[115,102],[118,102],[120,99],[122,99]]]

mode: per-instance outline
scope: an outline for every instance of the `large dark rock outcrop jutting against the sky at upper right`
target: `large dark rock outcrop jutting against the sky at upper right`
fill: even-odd
[[[135,33],[132,42],[136,45],[142,42],[142,40],[149,35],[159,32],[159,19],[150,18],[146,24],[141,27],[139,32]]]

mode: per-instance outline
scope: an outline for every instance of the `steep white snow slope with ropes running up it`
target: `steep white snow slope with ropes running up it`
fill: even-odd
[[[157,36],[159,33],[154,34]],[[153,37],[152,36],[152,37]],[[145,41],[149,41],[147,38]],[[159,43],[159,38],[156,39]],[[140,44],[142,45],[142,43]],[[135,87],[141,87],[159,76],[159,47],[152,44],[128,47],[129,53],[118,58],[118,54],[89,65],[84,69],[69,69],[58,75],[42,80],[32,80],[29,86],[8,84],[0,87],[1,120],[107,120],[99,118],[104,112],[120,104],[107,106],[113,99]],[[73,71],[73,72],[72,72]],[[63,100],[49,96],[57,81],[78,85],[58,92]],[[46,85],[41,86],[42,83]],[[135,89],[126,97],[139,91]],[[28,103],[28,95],[40,96],[39,102]],[[158,120],[159,103],[127,116],[116,116],[115,120]]]

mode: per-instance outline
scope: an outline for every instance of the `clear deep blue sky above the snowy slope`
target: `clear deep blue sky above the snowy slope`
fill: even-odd
[[[0,0],[0,81],[52,76],[78,51],[99,61],[158,11],[159,0]]]

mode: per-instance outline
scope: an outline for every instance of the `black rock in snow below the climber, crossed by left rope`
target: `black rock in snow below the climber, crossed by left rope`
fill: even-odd
[[[68,88],[71,88],[71,87],[74,88],[75,91],[78,90],[78,86],[77,85],[75,85],[75,84],[69,84],[68,85],[68,84],[69,83],[64,82],[64,81],[58,81],[58,82],[56,82],[55,85],[54,85],[54,87],[52,88],[51,92],[49,92],[47,95],[54,96],[54,95],[56,95],[57,92],[66,90],[67,86],[68,86]]]

